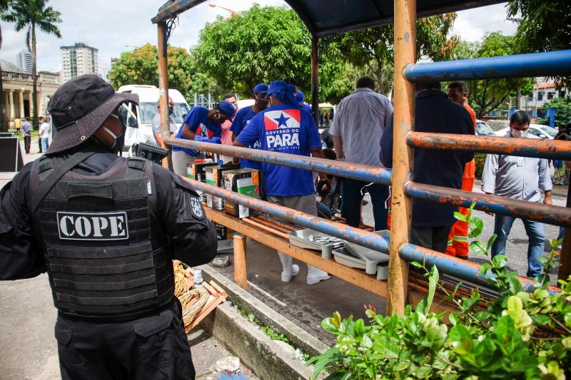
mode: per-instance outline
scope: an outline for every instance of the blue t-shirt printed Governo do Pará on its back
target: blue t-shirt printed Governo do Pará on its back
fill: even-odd
[[[260,140],[261,150],[306,157],[310,155],[311,148],[321,148],[318,129],[311,115],[287,104],[258,113],[237,140],[244,145]],[[267,195],[291,197],[315,192],[313,175],[308,170],[270,163],[262,163],[262,168]]]

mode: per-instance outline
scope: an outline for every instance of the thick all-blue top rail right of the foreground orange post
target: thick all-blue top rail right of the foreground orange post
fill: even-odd
[[[415,83],[569,74],[571,74],[571,50],[415,63],[405,68],[406,78]]]

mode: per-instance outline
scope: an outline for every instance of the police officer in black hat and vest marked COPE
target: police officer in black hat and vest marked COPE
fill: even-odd
[[[216,255],[216,231],[177,175],[116,155],[125,125],[95,75],[49,102],[56,137],[0,192],[0,279],[48,273],[63,379],[194,379],[172,259]]]

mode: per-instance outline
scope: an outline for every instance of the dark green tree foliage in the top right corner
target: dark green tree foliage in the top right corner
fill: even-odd
[[[571,1],[512,0],[507,16],[517,22],[515,50],[518,53],[554,51],[571,46]],[[556,77],[558,86],[571,83],[571,77]]]

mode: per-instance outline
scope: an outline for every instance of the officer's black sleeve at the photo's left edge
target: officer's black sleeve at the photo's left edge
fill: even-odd
[[[23,279],[46,272],[27,209],[31,163],[0,190],[0,279]]]

